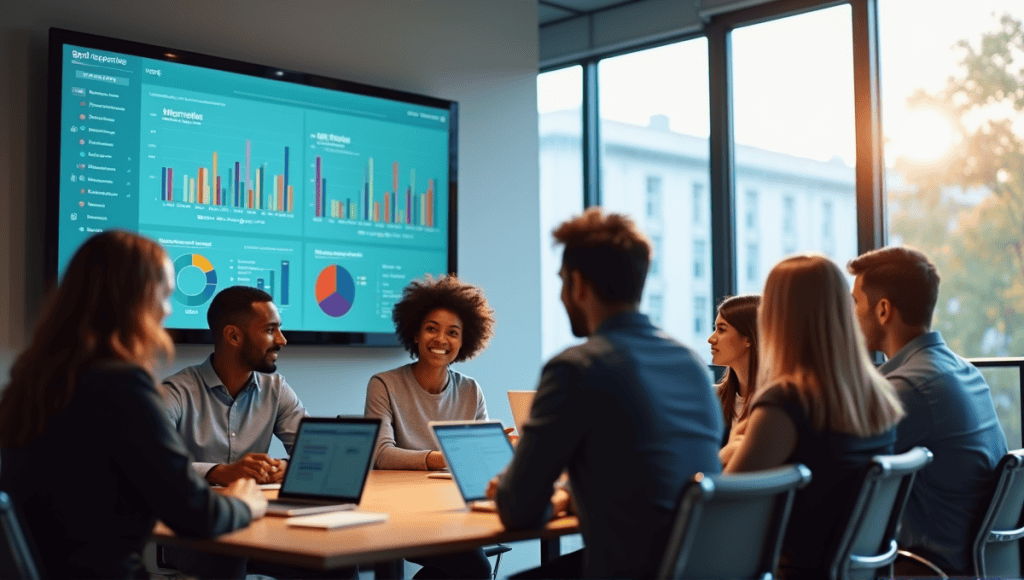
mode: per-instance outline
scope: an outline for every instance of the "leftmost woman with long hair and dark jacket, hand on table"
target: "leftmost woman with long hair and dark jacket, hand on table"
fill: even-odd
[[[212,536],[261,517],[253,480],[217,494],[196,474],[151,375],[174,268],[156,242],[111,231],[76,252],[0,399],[0,490],[53,578],[128,578],[157,520]]]

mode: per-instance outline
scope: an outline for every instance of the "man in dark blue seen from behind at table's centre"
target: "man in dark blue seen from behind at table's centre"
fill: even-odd
[[[588,340],[545,365],[488,494],[506,528],[538,528],[568,504],[552,494],[568,470],[586,548],[524,577],[653,577],[682,486],[721,470],[722,412],[700,359],[638,312],[651,245],[634,222],[591,208],[554,237],[562,303]]]

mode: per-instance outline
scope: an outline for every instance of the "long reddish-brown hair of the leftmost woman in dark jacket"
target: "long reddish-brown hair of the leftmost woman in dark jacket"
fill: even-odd
[[[39,437],[90,366],[123,361],[152,371],[161,354],[173,356],[158,305],[165,260],[159,244],[130,232],[103,232],[79,248],[11,367],[0,399],[0,447]]]

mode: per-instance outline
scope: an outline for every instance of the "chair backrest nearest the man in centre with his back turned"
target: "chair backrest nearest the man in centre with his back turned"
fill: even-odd
[[[658,578],[771,578],[804,465],[697,473],[680,493]]]

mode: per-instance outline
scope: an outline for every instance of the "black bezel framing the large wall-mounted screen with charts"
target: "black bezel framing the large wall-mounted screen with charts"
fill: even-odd
[[[447,273],[458,272],[458,132],[459,103],[454,100],[427,96],[397,89],[389,89],[345,81],[311,73],[302,73],[234,60],[220,56],[179,50],[154,44],[98,36],[59,28],[49,30],[49,71],[47,88],[46,129],[46,217],[44,277],[45,287],[53,288],[57,282],[58,212],[60,200],[60,114],[62,103],[63,45],[71,44],[98,50],[120,52],[132,56],[153,58],[178,65],[202,67],[227,73],[238,73],[281,82],[290,82],[316,88],[373,96],[399,102],[421,105],[449,112],[449,210],[447,210]],[[289,342],[297,344],[339,344],[361,346],[399,346],[394,332],[335,332],[284,329]],[[209,329],[168,329],[178,343],[213,343]]]

